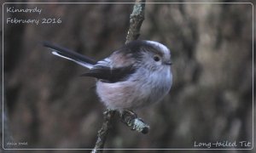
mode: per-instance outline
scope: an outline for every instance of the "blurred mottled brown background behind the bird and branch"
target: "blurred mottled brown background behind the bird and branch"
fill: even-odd
[[[4,5],[43,9],[40,15],[5,13],[4,21],[61,18],[61,24],[4,24],[5,148],[18,147],[7,145],[10,141],[27,142],[19,148],[93,148],[102,125],[105,108],[96,97],[94,79],[79,77],[84,67],[55,57],[41,42],[102,59],[125,43],[133,4],[50,2],[56,3]],[[146,5],[139,38],[171,49],[172,90],[159,104],[137,111],[151,127],[148,134],[131,131],[116,117],[105,148],[189,149],[195,148],[195,141],[224,140],[253,143],[253,6],[218,2],[228,3]]]

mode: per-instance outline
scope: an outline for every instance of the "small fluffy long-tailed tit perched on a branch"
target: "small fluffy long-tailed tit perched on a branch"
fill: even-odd
[[[52,54],[88,68],[83,74],[95,77],[96,93],[111,110],[137,109],[164,98],[172,87],[171,53],[154,41],[133,41],[108,58],[95,61],[49,42]]]

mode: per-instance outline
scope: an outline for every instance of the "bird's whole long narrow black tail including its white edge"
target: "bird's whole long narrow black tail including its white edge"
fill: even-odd
[[[73,62],[76,62],[79,65],[83,65],[84,67],[87,67],[89,69],[91,69],[93,65],[96,65],[96,60],[90,59],[82,54],[73,52],[67,48],[62,48],[50,42],[43,42],[43,45],[46,48],[50,48],[52,50],[52,54],[55,54],[56,56],[64,59],[72,60]]]

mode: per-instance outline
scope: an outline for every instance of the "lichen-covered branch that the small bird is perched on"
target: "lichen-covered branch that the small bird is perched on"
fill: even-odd
[[[133,6],[132,13],[130,15],[130,27],[127,33],[126,42],[131,42],[136,40],[140,36],[140,28],[144,20],[144,9],[146,0],[136,0]],[[98,131],[96,145],[91,153],[102,153],[104,144],[108,137],[109,129],[111,128],[111,122],[116,111],[106,111],[103,113],[104,122],[102,123],[102,128]],[[149,126],[143,122],[141,118],[137,117],[132,111],[123,111],[120,113],[121,122],[125,125],[131,127],[132,130],[137,130],[140,133],[148,133]]]

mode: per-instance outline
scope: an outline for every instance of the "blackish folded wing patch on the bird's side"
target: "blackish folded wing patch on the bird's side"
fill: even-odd
[[[132,66],[120,67],[110,69],[109,67],[99,66],[96,69],[91,69],[90,71],[84,73],[81,76],[85,77],[96,77],[101,79],[102,82],[122,82],[125,78],[130,76],[136,71]]]

